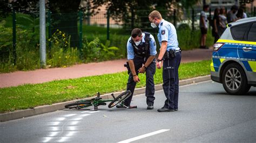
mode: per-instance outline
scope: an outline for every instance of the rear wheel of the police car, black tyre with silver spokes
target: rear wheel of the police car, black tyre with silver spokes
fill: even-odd
[[[247,84],[244,69],[237,63],[231,63],[226,66],[223,71],[222,81],[224,89],[231,95],[246,94],[251,88]]]

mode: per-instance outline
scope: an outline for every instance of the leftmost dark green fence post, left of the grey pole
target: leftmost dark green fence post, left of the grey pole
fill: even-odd
[[[16,65],[16,11],[12,11],[12,54],[14,56],[14,65]]]

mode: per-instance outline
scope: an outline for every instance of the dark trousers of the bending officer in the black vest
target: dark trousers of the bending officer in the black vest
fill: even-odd
[[[134,62],[136,74],[138,75],[139,73],[138,69],[142,67],[144,63],[144,58],[139,58],[135,56],[133,59],[133,62]],[[146,98],[147,98],[146,103],[147,104],[154,103],[154,99],[155,99],[154,98],[154,74],[155,73],[156,73],[156,61],[152,61],[151,64],[146,69]],[[132,73],[130,73],[126,89],[131,90],[132,95],[124,101],[124,105],[130,106],[135,87],[136,87],[136,82],[133,81]]]

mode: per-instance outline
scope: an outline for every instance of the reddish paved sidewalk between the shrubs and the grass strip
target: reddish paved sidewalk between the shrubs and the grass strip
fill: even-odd
[[[211,60],[212,49],[194,49],[190,51],[183,51],[181,53],[181,63]],[[86,63],[67,68],[37,69],[0,74],[0,88],[13,87],[28,83],[35,84],[53,80],[118,73],[126,71],[124,63],[126,63],[126,59]]]

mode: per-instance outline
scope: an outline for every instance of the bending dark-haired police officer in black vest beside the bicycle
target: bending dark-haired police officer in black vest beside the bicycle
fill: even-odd
[[[157,54],[156,42],[153,35],[144,32],[139,28],[134,28],[131,37],[127,41],[127,60],[130,67],[129,79],[127,82],[127,90],[134,92],[137,82],[140,82],[139,73],[146,72],[146,103],[147,109],[153,109],[154,104],[154,79],[156,73],[156,61],[154,60]],[[130,107],[132,95],[124,101],[124,106]],[[122,105],[117,105],[117,108],[124,108]]]

